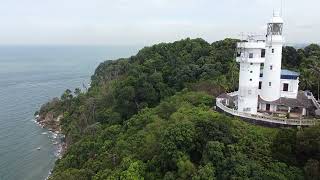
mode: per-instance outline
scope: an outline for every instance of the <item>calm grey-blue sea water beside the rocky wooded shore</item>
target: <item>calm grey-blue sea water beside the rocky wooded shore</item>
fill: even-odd
[[[35,123],[34,112],[67,88],[87,86],[100,62],[137,49],[0,46],[0,180],[45,179],[57,159],[58,139]]]

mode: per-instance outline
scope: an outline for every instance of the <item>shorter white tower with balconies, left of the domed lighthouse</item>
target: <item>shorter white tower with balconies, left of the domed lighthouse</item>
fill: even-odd
[[[237,44],[237,62],[240,63],[238,112],[256,114],[260,64],[265,61],[265,42],[249,36]]]

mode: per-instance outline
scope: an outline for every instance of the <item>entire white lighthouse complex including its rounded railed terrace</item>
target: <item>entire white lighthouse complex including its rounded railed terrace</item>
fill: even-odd
[[[320,112],[320,105],[312,94],[299,91],[300,74],[281,69],[283,24],[282,18],[274,14],[267,24],[265,39],[257,40],[251,36],[248,40],[237,43],[239,90],[220,95],[217,98],[220,109],[246,118],[266,114],[272,116],[270,119],[274,119],[274,115],[297,118],[300,119],[300,124],[302,117],[313,115],[317,109]],[[273,121],[267,118],[262,117],[266,121]],[[279,122],[283,123],[284,120]],[[295,120],[292,122],[298,123]]]

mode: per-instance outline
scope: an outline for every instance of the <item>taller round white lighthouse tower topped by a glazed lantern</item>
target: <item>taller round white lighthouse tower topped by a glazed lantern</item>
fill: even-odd
[[[265,101],[275,101],[281,97],[281,57],[283,19],[274,14],[268,23],[266,36],[266,60],[264,62],[261,98]]]

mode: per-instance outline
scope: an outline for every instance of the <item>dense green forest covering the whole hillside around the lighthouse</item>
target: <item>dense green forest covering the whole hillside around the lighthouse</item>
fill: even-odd
[[[213,110],[237,89],[238,40],[185,39],[100,64],[87,92],[45,104],[68,149],[50,179],[319,179],[320,127],[254,126]],[[318,92],[320,47],[285,47],[283,64]]]

